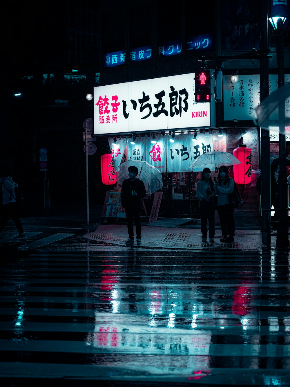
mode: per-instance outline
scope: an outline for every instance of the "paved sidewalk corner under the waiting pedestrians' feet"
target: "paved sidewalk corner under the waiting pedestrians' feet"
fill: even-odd
[[[186,223],[183,219],[183,223]],[[202,243],[201,231],[198,225],[183,225],[181,219],[166,218],[150,224],[142,224],[142,246],[134,248],[153,247],[174,250],[261,250],[266,248],[261,243],[259,229],[237,229],[234,243],[220,243],[222,233],[220,228],[215,231],[215,243]],[[135,229],[135,228],[134,228]],[[82,238],[97,243],[109,243],[125,246],[128,239],[126,224],[101,224],[95,231],[82,235]],[[272,237],[272,247],[276,247],[276,237]],[[131,247],[131,246],[130,246]]]

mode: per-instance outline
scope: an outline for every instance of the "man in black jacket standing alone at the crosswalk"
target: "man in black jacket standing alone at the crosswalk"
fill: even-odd
[[[141,245],[141,204],[146,195],[145,185],[142,180],[137,179],[138,168],[130,166],[128,168],[129,178],[122,183],[121,203],[125,208],[129,238],[125,245],[134,244],[133,220],[136,226],[136,242]]]

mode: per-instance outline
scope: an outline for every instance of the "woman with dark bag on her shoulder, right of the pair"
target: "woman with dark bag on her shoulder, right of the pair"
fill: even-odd
[[[229,203],[228,195],[234,190],[234,179],[229,178],[229,171],[225,165],[220,167],[218,172],[218,182],[215,185],[215,192],[218,195],[218,216],[220,217],[220,227],[222,238],[220,242],[234,242],[235,219],[234,207]]]

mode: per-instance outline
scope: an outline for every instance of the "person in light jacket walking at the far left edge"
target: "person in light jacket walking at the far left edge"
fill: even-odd
[[[2,209],[0,213],[0,233],[3,231],[7,220],[11,218],[19,232],[19,235],[15,239],[24,240],[26,235],[24,235],[23,227],[19,219],[16,198],[14,193],[14,188],[18,187],[17,183],[14,183],[12,178],[8,176],[7,172],[3,169],[0,169],[0,183],[2,188]]]

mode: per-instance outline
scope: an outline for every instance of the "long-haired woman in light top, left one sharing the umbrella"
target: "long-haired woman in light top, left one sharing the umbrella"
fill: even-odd
[[[208,234],[210,243],[214,243],[215,236],[215,182],[212,181],[209,168],[205,168],[201,173],[201,180],[196,184],[196,197],[200,199],[200,224],[201,224],[201,241],[207,241],[207,219]]]

